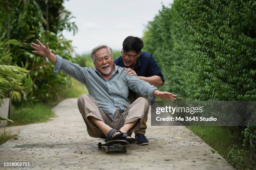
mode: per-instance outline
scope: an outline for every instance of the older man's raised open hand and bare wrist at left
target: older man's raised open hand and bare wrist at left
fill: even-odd
[[[32,51],[32,52],[35,54],[41,55],[43,57],[47,57],[49,60],[51,60],[51,62],[53,62],[55,64],[56,63],[56,55],[51,52],[51,50],[49,48],[49,43],[47,42],[46,46],[44,46],[42,44],[42,42],[37,39],[36,39],[36,42],[38,44],[31,42],[31,47],[34,49],[34,51]]]

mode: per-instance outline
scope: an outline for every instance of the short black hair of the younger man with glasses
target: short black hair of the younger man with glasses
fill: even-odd
[[[124,51],[133,50],[136,52],[140,52],[142,48],[143,48],[143,41],[139,37],[128,36],[123,41]]]

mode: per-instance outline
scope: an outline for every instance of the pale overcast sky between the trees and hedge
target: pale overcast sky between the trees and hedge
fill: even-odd
[[[173,0],[69,0],[64,6],[74,15],[78,33],[64,32],[78,54],[107,44],[121,50],[125,37],[142,37],[148,21],[154,19],[162,5]]]

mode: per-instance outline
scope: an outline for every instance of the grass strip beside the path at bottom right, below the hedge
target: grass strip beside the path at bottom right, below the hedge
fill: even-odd
[[[242,147],[242,128],[226,126],[187,126],[187,128],[202,138],[236,169],[253,170],[256,167],[256,156],[252,150],[244,150]]]

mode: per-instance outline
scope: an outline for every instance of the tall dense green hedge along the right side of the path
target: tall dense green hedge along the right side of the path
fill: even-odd
[[[174,0],[148,23],[143,50],[153,53],[163,71],[160,89],[179,100],[256,100],[255,35],[255,1]],[[245,149],[255,159],[256,127],[230,130],[243,131],[243,145],[226,158],[240,158]]]

